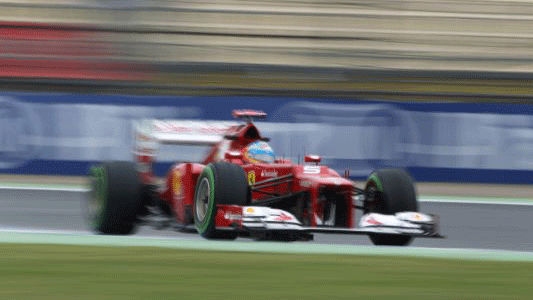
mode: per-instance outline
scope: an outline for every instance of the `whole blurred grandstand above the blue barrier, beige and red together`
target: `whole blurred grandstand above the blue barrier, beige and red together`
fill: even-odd
[[[0,20],[4,79],[533,94],[529,0],[0,0]]]

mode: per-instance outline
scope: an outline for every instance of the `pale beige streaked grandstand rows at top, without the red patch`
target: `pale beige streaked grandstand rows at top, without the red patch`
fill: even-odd
[[[105,32],[159,62],[531,71],[532,1],[6,1],[4,20]],[[512,50],[512,51],[510,51]]]

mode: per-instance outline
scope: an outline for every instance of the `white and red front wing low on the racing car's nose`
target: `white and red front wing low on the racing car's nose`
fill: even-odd
[[[218,230],[247,233],[332,233],[332,234],[392,234],[413,237],[443,238],[440,234],[439,217],[419,212],[401,212],[394,215],[365,214],[357,228],[331,226],[304,226],[291,213],[262,206],[219,205],[215,225]]]

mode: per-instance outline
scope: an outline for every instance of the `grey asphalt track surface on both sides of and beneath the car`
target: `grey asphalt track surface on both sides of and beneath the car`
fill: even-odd
[[[90,234],[81,214],[84,199],[85,193],[79,191],[0,189],[0,229],[67,230]],[[432,202],[421,203],[420,209],[441,216],[441,231],[447,238],[418,238],[412,246],[533,251],[531,205]],[[197,234],[149,227],[141,227],[136,235],[201,239]],[[365,236],[328,234],[316,234],[311,243],[371,245]]]

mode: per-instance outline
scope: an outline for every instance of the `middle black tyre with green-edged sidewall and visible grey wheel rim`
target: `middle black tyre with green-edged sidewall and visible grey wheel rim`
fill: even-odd
[[[194,224],[206,239],[231,240],[233,231],[217,230],[217,204],[241,205],[249,203],[250,193],[244,170],[236,164],[215,162],[207,165],[196,182],[194,192]]]

